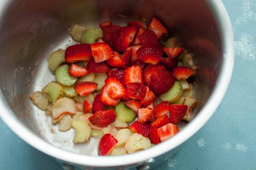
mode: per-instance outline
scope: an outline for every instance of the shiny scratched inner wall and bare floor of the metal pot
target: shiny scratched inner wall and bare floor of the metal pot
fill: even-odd
[[[163,20],[170,35],[179,37],[194,54],[198,67],[194,115],[210,96],[221,68],[221,38],[215,18],[203,0],[13,0],[0,24],[0,88],[24,125],[46,141],[72,152],[96,155],[97,139],[72,143],[74,130],[59,132],[28,95],[54,80],[47,60],[52,51],[73,43],[74,24],[98,26],[111,20],[123,25],[153,15]],[[26,116],[27,115],[27,116]],[[186,124],[185,124],[186,125]],[[55,133],[52,133],[52,130]]]

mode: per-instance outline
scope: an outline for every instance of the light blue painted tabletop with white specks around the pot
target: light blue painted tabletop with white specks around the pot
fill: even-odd
[[[233,25],[233,77],[218,110],[157,170],[256,170],[256,0],[223,0]],[[0,170],[61,170],[0,120]]]

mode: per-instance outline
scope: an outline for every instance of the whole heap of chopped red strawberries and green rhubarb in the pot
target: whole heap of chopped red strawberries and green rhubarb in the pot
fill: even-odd
[[[178,45],[157,18],[148,25],[74,26],[82,42],[49,57],[56,81],[30,95],[52,116],[58,130],[73,128],[73,143],[100,138],[98,154],[122,155],[147,149],[178,133],[197,104],[192,55]],[[165,40],[165,41],[164,41]]]

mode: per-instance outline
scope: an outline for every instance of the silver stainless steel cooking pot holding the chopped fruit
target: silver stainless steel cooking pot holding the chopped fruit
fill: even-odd
[[[157,15],[195,54],[198,66],[194,119],[172,139],[125,156],[93,156],[96,143],[73,145],[74,131],[60,133],[28,95],[54,79],[49,54],[72,44],[74,24],[147,21]],[[23,140],[57,159],[85,167],[155,166],[171,156],[212,116],[233,70],[233,32],[221,0],[1,0],[0,116]],[[51,133],[51,129],[55,133]],[[143,166],[140,168],[147,168]]]

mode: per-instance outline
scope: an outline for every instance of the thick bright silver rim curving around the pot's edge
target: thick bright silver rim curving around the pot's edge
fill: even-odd
[[[7,4],[7,0],[2,1],[2,4]],[[219,23],[219,30],[223,42],[223,65],[221,67],[219,78],[215,88],[208,101],[198,113],[198,115],[180,132],[171,139],[157,144],[157,147],[151,147],[137,153],[131,153],[122,156],[86,156],[79,153],[56,147],[42,139],[40,136],[32,132],[28,127],[23,125],[15,116],[12,109],[3,97],[0,89],[0,117],[17,134],[21,139],[30,144],[32,147],[53,156],[57,159],[67,161],[73,164],[84,165],[87,167],[118,167],[129,166],[133,164],[143,163],[151,158],[160,156],[169,150],[179,146],[191,136],[193,136],[201,127],[210,119],[212,114],[218,108],[224,94],[227,91],[234,65],[234,49],[233,49],[233,30],[227,11],[221,0],[206,1],[212,8],[212,13]],[[0,9],[1,10],[1,9]],[[221,88],[216,88],[221,87]],[[116,161],[116,158],[119,161]]]

